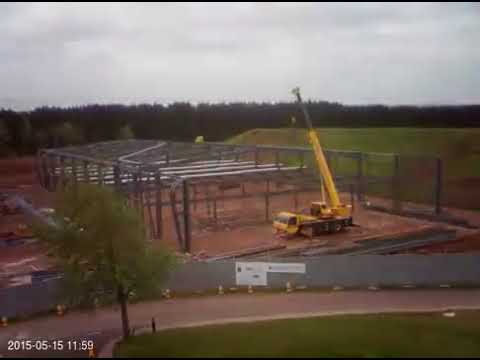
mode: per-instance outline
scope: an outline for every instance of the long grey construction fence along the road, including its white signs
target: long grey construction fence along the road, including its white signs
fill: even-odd
[[[260,282],[259,282],[260,281]],[[194,262],[178,267],[164,284],[175,293],[231,287],[270,289],[367,287],[479,287],[480,255],[329,255],[316,258]],[[0,316],[31,316],[59,303],[58,280],[0,289]]]

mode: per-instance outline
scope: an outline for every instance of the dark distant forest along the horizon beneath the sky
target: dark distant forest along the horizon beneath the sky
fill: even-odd
[[[480,105],[347,106],[309,102],[318,127],[480,127]],[[115,139],[222,141],[254,128],[303,126],[294,103],[174,103],[43,107],[30,112],[0,110],[0,155],[35,153],[39,148]]]

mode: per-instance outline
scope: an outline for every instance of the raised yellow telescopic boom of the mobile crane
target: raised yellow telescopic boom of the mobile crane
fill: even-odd
[[[338,196],[337,188],[333,181],[332,173],[330,172],[330,169],[327,164],[327,160],[325,159],[325,155],[320,145],[320,139],[318,138],[317,132],[315,131],[312,125],[310,114],[308,113],[307,107],[302,101],[302,96],[300,95],[300,89],[298,87],[294,88],[292,92],[297,98],[297,102],[300,105],[300,108],[302,109],[303,116],[305,118],[305,123],[307,124],[308,138],[310,143],[312,144],[313,152],[315,154],[315,159],[317,161],[317,166],[318,166],[318,169],[320,170],[320,174],[325,183],[325,187],[331,202],[331,206],[333,208],[340,207],[341,206],[340,198]]]

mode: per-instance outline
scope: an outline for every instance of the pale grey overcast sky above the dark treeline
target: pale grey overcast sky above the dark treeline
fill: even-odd
[[[480,4],[1,3],[0,107],[480,103]]]

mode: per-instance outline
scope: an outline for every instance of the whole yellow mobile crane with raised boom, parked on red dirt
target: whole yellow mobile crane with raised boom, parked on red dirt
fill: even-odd
[[[310,215],[291,212],[279,213],[273,221],[273,227],[276,232],[290,235],[301,233],[304,230],[311,231],[312,236],[319,235],[323,232],[338,232],[347,226],[353,225],[352,206],[342,204],[340,201],[335,182],[333,181],[325,155],[320,146],[317,132],[313,128],[310,114],[302,101],[300,89],[298,87],[294,88],[292,93],[295,95],[303,112],[308,131],[308,140],[313,147],[317,166],[322,178],[320,184],[322,201],[312,202]],[[325,201],[324,189],[327,190],[329,204]]]

